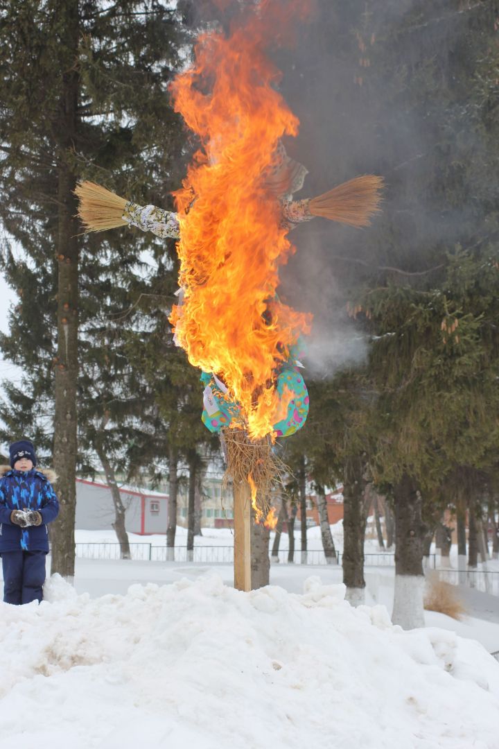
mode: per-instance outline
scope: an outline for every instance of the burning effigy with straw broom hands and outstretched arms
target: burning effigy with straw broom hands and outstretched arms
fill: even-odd
[[[315,216],[367,225],[382,187],[364,175],[293,199],[307,169],[282,142],[299,121],[266,56],[270,5],[254,4],[228,34],[200,34],[193,64],[174,79],[174,108],[199,143],[175,213],[93,183],[76,188],[86,231],[133,225],[177,240],[174,340],[201,371],[203,423],[221,434],[228,475],[250,485],[257,519],[279,473],[275,439],[294,434],[308,413],[299,352],[311,316],[278,297],[279,268],[296,251],[290,230]]]

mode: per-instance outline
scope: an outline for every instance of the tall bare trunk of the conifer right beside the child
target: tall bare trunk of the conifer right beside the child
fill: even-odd
[[[78,0],[61,4],[58,24],[67,47],[74,50],[74,61],[79,48]],[[60,102],[61,124],[58,160],[58,342],[55,361],[55,416],[53,465],[58,474],[58,499],[61,506],[52,524],[51,573],[58,572],[73,580],[75,572],[75,515],[76,515],[76,386],[78,380],[78,263],[79,227],[74,219],[76,199],[75,175],[67,166],[68,155],[74,148],[77,131],[79,72],[76,64],[68,66],[63,77],[63,96]]]

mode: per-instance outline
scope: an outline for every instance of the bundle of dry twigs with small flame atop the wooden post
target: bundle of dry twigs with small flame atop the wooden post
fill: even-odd
[[[251,489],[251,506],[257,523],[271,529],[277,524],[275,508],[270,503],[272,490],[281,483],[284,463],[275,455],[272,437],[251,440],[242,429],[225,429],[227,470],[224,480],[234,485],[247,482]]]

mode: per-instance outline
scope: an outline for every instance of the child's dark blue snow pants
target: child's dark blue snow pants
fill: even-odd
[[[6,604],[28,604],[42,600],[45,560],[46,551],[2,551]]]

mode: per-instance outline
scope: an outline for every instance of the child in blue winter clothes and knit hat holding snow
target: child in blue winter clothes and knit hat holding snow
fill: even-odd
[[[0,466],[0,556],[4,601],[41,601],[45,557],[49,551],[47,523],[58,515],[59,503],[51,470],[35,470],[37,456],[29,440],[9,447],[10,466]],[[50,480],[49,480],[50,479]]]

